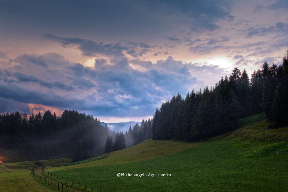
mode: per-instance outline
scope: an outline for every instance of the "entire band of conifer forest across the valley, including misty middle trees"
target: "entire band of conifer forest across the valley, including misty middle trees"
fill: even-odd
[[[288,52],[287,52],[288,54]],[[65,110],[61,116],[49,110],[43,115],[19,112],[0,116],[1,156],[6,161],[73,157],[74,161],[120,150],[149,138],[154,140],[195,141],[238,127],[237,120],[264,112],[275,122],[287,125],[288,57],[280,65],[266,61],[254,70],[235,67],[214,87],[178,93],[156,109],[153,118],[136,123],[125,133],[108,129],[92,115]]]

